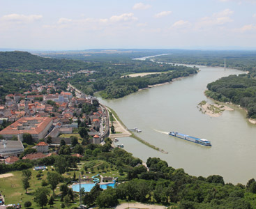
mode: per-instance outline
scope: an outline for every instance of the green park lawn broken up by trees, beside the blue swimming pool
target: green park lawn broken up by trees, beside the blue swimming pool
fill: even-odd
[[[86,175],[88,178],[91,178],[91,176],[95,176],[96,174],[100,174],[102,176],[108,176],[108,177],[119,177],[119,171],[116,171],[116,167],[110,166],[110,163],[105,162],[103,160],[93,160],[92,167],[87,169],[87,171],[84,171],[84,164],[88,162],[80,162],[77,165],[76,169],[71,169],[70,171],[64,173],[62,176],[64,178],[73,178],[74,172],[76,175],[76,178],[78,178],[81,171],[84,171],[84,175]],[[47,167],[49,171],[52,170],[52,167]],[[13,176],[10,176],[8,178],[0,178],[0,191],[3,195],[5,195],[5,201],[6,204],[17,204],[20,203],[24,205],[25,201],[31,201],[32,206],[31,208],[39,209],[39,206],[36,206],[36,203],[33,201],[33,193],[36,191],[38,187],[41,187],[41,183],[43,179],[46,179],[47,172],[43,171],[40,178],[36,178],[36,175],[39,173],[39,171],[34,171],[33,169],[30,169],[32,172],[31,180],[29,181],[31,187],[28,189],[28,193],[26,194],[25,189],[22,187],[22,171],[13,171]],[[60,183],[61,185],[63,183]],[[60,194],[59,192],[59,185],[57,186],[57,189],[55,190],[55,194]],[[47,187],[50,188],[48,185]],[[50,192],[50,195],[52,195],[52,190]],[[48,197],[48,199],[50,196]],[[54,202],[54,209],[55,208],[61,208],[61,201],[60,197],[55,198]],[[75,199],[72,203],[69,204],[69,206],[66,206],[66,208],[73,208],[75,206],[79,205],[79,199]],[[44,209],[50,208],[50,206],[45,206]]]

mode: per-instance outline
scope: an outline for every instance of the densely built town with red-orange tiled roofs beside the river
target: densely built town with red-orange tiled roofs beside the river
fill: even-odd
[[[4,127],[0,131],[0,157],[6,164],[19,160],[14,156],[24,152],[22,142],[27,142],[28,134],[38,143],[37,153],[23,157],[30,160],[50,155],[49,144],[59,146],[63,140],[70,145],[72,137],[81,139],[83,145],[104,144],[110,134],[106,107],[96,98],[75,91],[70,84],[68,91],[56,91],[54,82],[38,82],[31,85],[31,91],[6,95],[6,104],[0,106]]]

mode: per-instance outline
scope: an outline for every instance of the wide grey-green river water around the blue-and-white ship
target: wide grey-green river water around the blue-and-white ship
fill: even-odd
[[[246,112],[234,108],[218,118],[197,109],[206,85],[220,77],[238,75],[239,70],[200,68],[197,75],[178,79],[172,84],[149,88],[117,100],[100,102],[111,107],[128,128],[138,127],[137,136],[162,148],[168,154],[141,144],[133,138],[120,138],[119,144],[146,162],[160,157],[175,169],[183,168],[193,176],[223,176],[225,183],[246,184],[256,178],[256,125],[248,122]],[[168,135],[178,131],[208,139],[212,147],[204,147]]]

